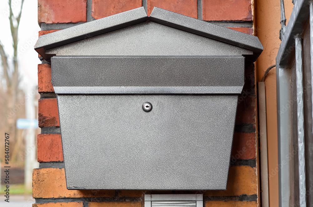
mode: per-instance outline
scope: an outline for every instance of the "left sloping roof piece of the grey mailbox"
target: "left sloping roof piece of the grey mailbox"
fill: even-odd
[[[47,56],[45,54],[45,50],[49,48],[56,48],[64,44],[88,39],[96,35],[144,22],[147,18],[145,9],[141,7],[106,18],[83,23],[71,28],[40,36],[35,44],[35,50],[44,59],[49,59],[51,56]]]

